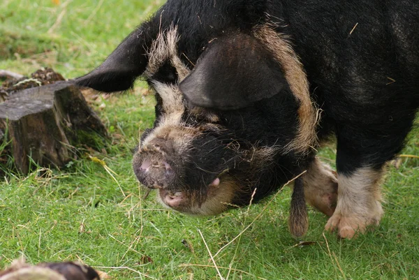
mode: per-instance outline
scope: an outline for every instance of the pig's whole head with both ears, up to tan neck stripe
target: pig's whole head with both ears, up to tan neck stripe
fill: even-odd
[[[176,20],[187,7],[163,7],[76,81],[112,92],[145,78],[156,120],[142,133],[135,175],[172,209],[217,214],[304,170],[314,114],[304,71],[277,32],[228,19],[205,27],[204,15]]]

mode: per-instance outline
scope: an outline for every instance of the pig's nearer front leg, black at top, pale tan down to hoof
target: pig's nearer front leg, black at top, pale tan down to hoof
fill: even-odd
[[[362,131],[357,126],[338,131],[337,206],[325,229],[351,239],[380,222],[383,165],[402,148],[404,135],[389,139],[388,133]]]

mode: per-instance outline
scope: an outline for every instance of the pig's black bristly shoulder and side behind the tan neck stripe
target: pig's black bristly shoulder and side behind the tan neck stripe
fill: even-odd
[[[419,105],[417,2],[283,3],[325,126],[337,134],[337,170],[381,168],[402,149]]]

